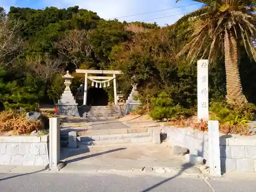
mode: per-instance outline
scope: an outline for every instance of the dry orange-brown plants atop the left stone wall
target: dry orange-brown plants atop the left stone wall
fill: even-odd
[[[41,120],[27,119],[26,112],[10,110],[0,113],[0,133],[14,132],[19,135],[39,129],[42,129]]]

